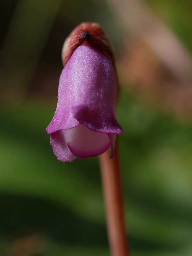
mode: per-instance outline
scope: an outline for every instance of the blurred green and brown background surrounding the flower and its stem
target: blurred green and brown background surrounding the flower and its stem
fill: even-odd
[[[45,132],[63,42],[91,21],[116,51],[132,256],[191,256],[191,1],[0,0],[0,10],[0,255],[109,256],[98,158],[60,162]]]

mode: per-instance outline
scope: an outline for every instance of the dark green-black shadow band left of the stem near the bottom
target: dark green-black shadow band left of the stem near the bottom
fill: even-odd
[[[41,232],[60,243],[108,246],[105,225],[77,216],[53,202],[0,194],[0,234],[8,238]]]

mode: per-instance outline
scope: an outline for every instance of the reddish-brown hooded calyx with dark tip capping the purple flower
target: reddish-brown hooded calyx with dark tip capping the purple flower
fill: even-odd
[[[93,48],[105,54],[115,67],[115,55],[108,36],[98,23],[84,22],[79,24],[66,38],[62,49],[63,66],[76,50],[76,48],[87,41]]]

